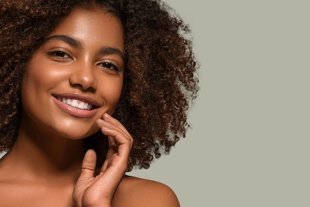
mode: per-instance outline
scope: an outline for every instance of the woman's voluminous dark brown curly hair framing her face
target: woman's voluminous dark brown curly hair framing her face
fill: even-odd
[[[17,137],[20,83],[32,53],[73,7],[100,5],[117,16],[125,34],[125,73],[113,116],[135,142],[127,171],[148,168],[168,154],[189,128],[187,112],[199,90],[190,30],[160,0],[0,0],[0,152]],[[85,138],[103,163],[102,133]]]

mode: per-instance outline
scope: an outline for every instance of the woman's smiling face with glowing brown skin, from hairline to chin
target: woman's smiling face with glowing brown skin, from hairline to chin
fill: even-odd
[[[112,14],[73,9],[28,63],[21,123],[70,139],[98,131],[95,120],[113,113],[122,90],[123,41]]]

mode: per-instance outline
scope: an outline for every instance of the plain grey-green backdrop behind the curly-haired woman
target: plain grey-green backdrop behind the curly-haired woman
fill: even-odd
[[[187,137],[128,174],[182,207],[309,207],[309,1],[165,1],[192,29],[201,90]]]

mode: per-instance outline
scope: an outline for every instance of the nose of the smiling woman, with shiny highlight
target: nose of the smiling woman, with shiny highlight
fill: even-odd
[[[96,90],[97,79],[94,68],[90,63],[76,63],[69,77],[71,85],[81,87],[83,90]]]

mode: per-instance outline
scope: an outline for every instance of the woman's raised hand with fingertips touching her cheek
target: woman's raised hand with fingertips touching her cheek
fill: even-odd
[[[96,121],[108,138],[109,149],[99,175],[94,177],[96,153],[86,152],[82,172],[73,190],[76,207],[110,207],[113,195],[127,169],[133,138],[125,127],[107,113]]]

